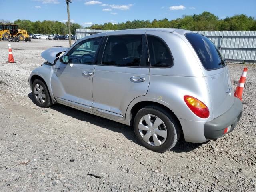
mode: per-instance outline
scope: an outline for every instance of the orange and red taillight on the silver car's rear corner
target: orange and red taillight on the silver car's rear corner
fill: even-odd
[[[207,106],[197,98],[189,95],[184,96],[184,101],[186,102],[188,108],[200,118],[208,118],[210,115]]]

